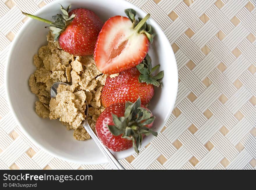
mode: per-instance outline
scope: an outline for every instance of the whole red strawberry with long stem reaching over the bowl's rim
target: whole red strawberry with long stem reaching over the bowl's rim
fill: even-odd
[[[52,31],[54,40],[58,40],[64,51],[72,55],[92,55],[103,22],[91,10],[78,8],[68,13],[70,8],[71,6],[68,6],[67,9],[64,9],[61,6],[63,15],[53,16],[55,22],[28,13],[23,12],[23,14],[49,23],[50,26],[47,26],[47,28]]]

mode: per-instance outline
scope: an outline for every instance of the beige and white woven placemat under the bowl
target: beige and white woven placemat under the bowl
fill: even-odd
[[[54,158],[15,123],[4,90],[5,55],[26,20],[52,0],[0,0],[0,168],[111,169]],[[256,2],[130,0],[150,12],[175,52],[177,101],[170,119],[127,169],[256,169]],[[166,73],[168,74],[168,73]]]

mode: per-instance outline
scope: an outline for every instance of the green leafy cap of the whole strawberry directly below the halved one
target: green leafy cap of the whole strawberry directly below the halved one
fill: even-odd
[[[145,82],[147,84],[153,84],[154,86],[160,87],[162,86],[162,79],[164,76],[163,70],[157,73],[157,75],[152,75],[155,70],[160,67],[160,64],[154,66],[152,68],[151,58],[147,54],[145,59],[136,66],[136,68],[141,73],[138,80],[139,82]]]

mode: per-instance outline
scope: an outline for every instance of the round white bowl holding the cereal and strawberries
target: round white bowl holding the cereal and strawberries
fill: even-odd
[[[124,0],[68,0],[54,1],[49,3],[35,15],[51,20],[51,16],[60,13],[61,3],[64,7],[69,4],[74,8],[87,8],[93,10],[103,21],[115,15],[126,16],[124,10],[133,8],[137,15],[144,17],[146,13],[140,8]],[[160,130],[165,125],[173,109],[178,87],[178,73],[175,56],[170,43],[158,24],[152,19],[148,19],[157,34],[153,44],[150,45],[149,55],[152,64],[161,64],[164,70],[163,87],[155,88],[155,95],[150,102],[150,110],[156,116],[153,128]],[[8,55],[6,68],[6,90],[12,113],[17,124],[22,128],[23,133],[37,146],[51,155],[83,164],[106,163],[107,160],[99,151],[92,139],[78,141],[73,138],[73,131],[68,131],[58,120],[42,119],[35,113],[35,101],[37,97],[31,93],[29,87],[29,77],[35,71],[33,65],[33,55],[38,49],[47,43],[46,35],[48,29],[44,27],[46,23],[28,19],[19,30]],[[145,137],[142,147],[146,146],[153,135]],[[134,153],[133,148],[113,152],[116,158],[122,159]]]

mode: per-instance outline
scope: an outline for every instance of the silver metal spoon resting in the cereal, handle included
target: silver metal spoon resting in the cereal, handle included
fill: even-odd
[[[64,85],[68,85],[64,82],[55,82],[52,86],[51,86],[51,98],[54,98],[57,95],[57,88],[60,84],[64,84]],[[75,89],[75,91],[77,91],[77,89]],[[85,100],[86,102],[86,100]],[[88,104],[86,102],[86,118],[85,120],[81,123],[81,125],[84,127],[84,129],[89,133],[89,135],[92,137],[92,139],[94,140],[94,142],[97,144],[97,146],[99,147],[99,149],[102,151],[102,153],[104,154],[104,156],[108,159],[109,163],[111,164],[113,169],[125,169],[120,162],[118,162],[118,160],[113,156],[113,154],[109,151],[109,149],[107,149],[102,142],[99,140],[98,136],[94,133],[94,131],[92,130],[92,128],[90,128],[88,121],[87,121],[87,116],[88,116]]]

